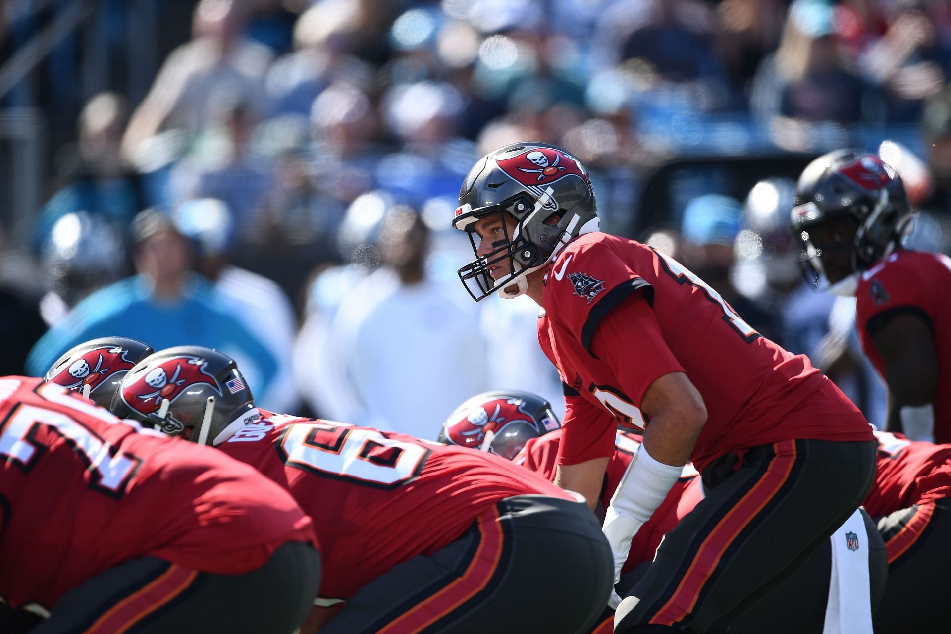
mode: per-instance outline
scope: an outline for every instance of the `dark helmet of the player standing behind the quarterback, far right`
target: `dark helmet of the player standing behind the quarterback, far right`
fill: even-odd
[[[902,179],[878,156],[819,157],[796,184],[791,217],[806,278],[817,290],[854,295],[859,274],[892,252],[909,218]]]

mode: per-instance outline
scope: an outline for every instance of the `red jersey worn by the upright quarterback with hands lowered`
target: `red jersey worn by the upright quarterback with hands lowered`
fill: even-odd
[[[671,372],[685,372],[707,406],[691,455],[700,471],[728,451],[790,438],[872,439],[808,358],[760,336],[702,279],[644,244],[600,232],[572,240],[549,268],[544,305],[539,341],[566,386],[560,464],[611,456],[616,425],[643,429],[641,399]]]

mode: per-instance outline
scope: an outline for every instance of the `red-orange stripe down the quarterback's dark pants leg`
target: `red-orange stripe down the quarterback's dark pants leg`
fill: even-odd
[[[773,495],[786,484],[789,472],[796,462],[796,441],[784,440],[775,443],[773,451],[776,455],[770,461],[767,472],[713,527],[694,555],[687,574],[680,580],[670,600],[650,619],[650,623],[672,625],[689,614],[724,552]]]

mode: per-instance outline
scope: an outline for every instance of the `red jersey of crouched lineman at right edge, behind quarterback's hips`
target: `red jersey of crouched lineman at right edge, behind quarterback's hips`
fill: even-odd
[[[875,437],[875,484],[863,503],[871,517],[951,497],[951,445],[912,442],[901,433]]]

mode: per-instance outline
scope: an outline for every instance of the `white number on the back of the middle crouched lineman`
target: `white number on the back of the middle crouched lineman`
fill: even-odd
[[[378,489],[396,489],[416,478],[431,452],[374,430],[329,422],[291,425],[277,447],[285,465]]]

